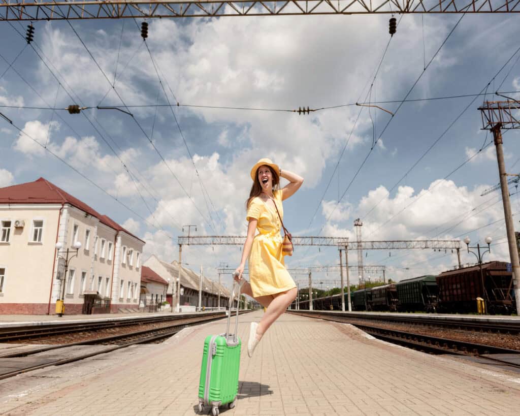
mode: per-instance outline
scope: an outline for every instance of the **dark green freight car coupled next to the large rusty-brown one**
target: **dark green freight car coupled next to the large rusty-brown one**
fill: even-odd
[[[427,275],[396,283],[400,311],[424,310],[435,312],[439,289],[435,276]]]

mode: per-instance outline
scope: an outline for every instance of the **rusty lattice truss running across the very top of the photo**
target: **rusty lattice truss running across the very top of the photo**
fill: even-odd
[[[518,13],[520,0],[0,0],[0,20]]]

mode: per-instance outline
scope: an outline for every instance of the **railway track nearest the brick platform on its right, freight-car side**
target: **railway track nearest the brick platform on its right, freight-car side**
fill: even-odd
[[[520,369],[520,351],[516,349],[501,348],[492,345],[483,345],[474,342],[466,342],[460,340],[448,339],[446,337],[430,336],[407,331],[395,330],[392,328],[381,328],[371,326],[370,324],[359,323],[356,319],[342,314],[324,313],[323,311],[290,311],[301,316],[309,318],[324,319],[333,322],[350,323],[356,328],[374,336],[377,339],[398,344],[408,348],[420,350],[430,354],[454,354],[460,356],[473,356],[483,360],[490,360],[495,363],[501,363],[509,367]],[[363,319],[367,320],[366,315]],[[402,321],[400,321],[402,322]],[[437,321],[432,325],[437,325]],[[424,320],[421,324],[427,324]],[[473,329],[474,330],[474,329]],[[490,357],[489,355],[499,355],[498,357]],[[500,357],[507,356],[509,359]]]

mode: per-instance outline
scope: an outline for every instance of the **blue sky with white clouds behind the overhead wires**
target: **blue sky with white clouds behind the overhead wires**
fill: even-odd
[[[408,99],[478,94],[491,81],[486,98],[501,100],[492,94],[497,89],[520,90],[519,54],[513,55],[520,46],[519,18],[466,15],[457,24],[457,15],[406,15],[369,89],[389,40],[388,18],[150,20],[147,44],[167,99],[140,37],[140,21],[71,22],[102,71],[68,22],[35,22],[33,45],[61,85],[17,33],[24,34],[26,24],[4,22],[0,54],[9,63],[21,55],[11,69],[0,58],[0,75],[8,69],[0,78],[0,112],[105,192],[3,119],[0,186],[43,176],[145,239],[145,258],[157,254],[172,261],[177,258],[179,226],[197,224],[199,235],[245,234],[249,170],[258,159],[269,157],[305,177],[302,189],[284,203],[284,222],[294,235],[355,239],[353,221],[360,217],[365,239],[451,239],[468,234],[476,243],[489,234],[498,243],[492,246],[491,257],[505,260],[503,223],[480,228],[503,218],[498,192],[480,197],[484,189],[498,183],[493,146],[445,179],[491,140],[488,135],[486,141],[486,133],[480,131],[477,108],[484,96],[473,103],[475,97],[409,101],[400,107],[400,102],[379,103],[391,112],[398,109],[382,135],[391,118],[388,113],[344,105],[363,102],[367,96],[378,102],[402,100],[422,72]],[[118,95],[128,106],[151,107],[130,107],[134,117],[117,110],[69,114],[13,108],[64,109],[74,103],[124,109]],[[169,107],[153,107],[168,100],[181,106],[173,107],[173,112]],[[207,106],[340,107],[298,115]],[[379,139],[375,145],[374,138]],[[371,147],[369,158],[347,188]],[[504,150],[508,172],[518,173],[518,132],[504,135]],[[489,207],[482,210],[486,201]],[[517,194],[512,205],[513,213],[520,211]],[[236,267],[240,261],[237,247],[191,246],[183,253],[194,270],[202,263],[210,278],[220,262]],[[429,250],[389,254],[369,252],[364,260],[387,265],[386,276],[396,280],[438,273],[457,262],[451,253]],[[356,259],[356,253],[350,253],[351,265]],[[297,248],[287,264],[308,267],[338,261],[333,248]],[[463,262],[474,259],[464,254]],[[339,279],[339,273],[315,277]]]

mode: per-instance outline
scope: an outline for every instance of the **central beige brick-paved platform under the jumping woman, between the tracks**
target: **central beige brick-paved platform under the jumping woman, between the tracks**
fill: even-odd
[[[241,317],[249,323],[262,311]],[[225,320],[141,345],[0,381],[0,413],[196,414],[202,345]],[[520,374],[432,356],[373,339],[348,325],[283,315],[253,358],[242,348],[232,415],[515,414]],[[209,414],[210,408],[205,408]]]

